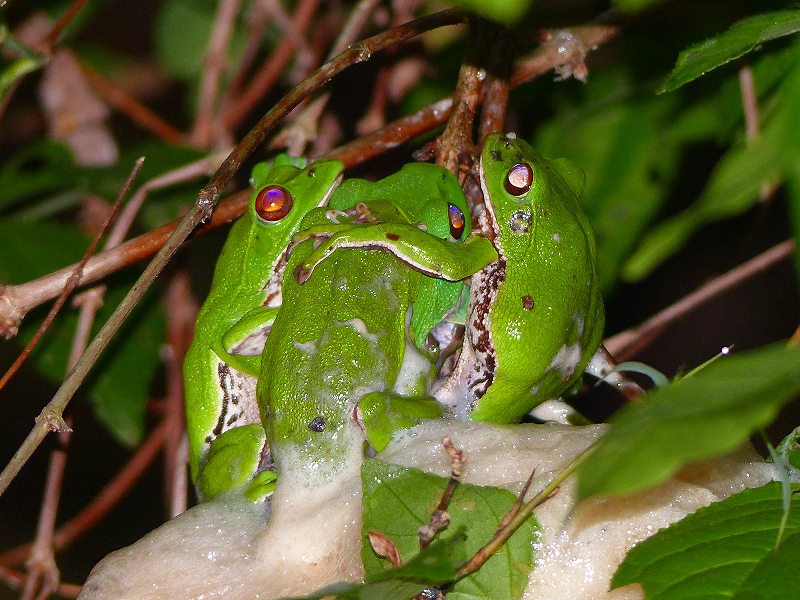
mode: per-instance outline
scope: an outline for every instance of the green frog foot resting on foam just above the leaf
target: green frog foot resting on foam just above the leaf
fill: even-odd
[[[386,392],[365,394],[358,403],[359,422],[367,441],[380,452],[395,433],[418,425],[423,419],[442,416],[442,407],[435,398],[408,398]]]

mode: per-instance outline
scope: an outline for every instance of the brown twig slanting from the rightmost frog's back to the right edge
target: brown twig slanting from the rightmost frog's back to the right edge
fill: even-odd
[[[760,273],[776,263],[790,257],[795,249],[793,239],[786,240],[773,246],[769,250],[762,252],[758,256],[751,258],[738,267],[734,267],[727,273],[715,277],[708,283],[702,285],[688,296],[668,306],[664,310],[656,313],[641,325],[626,329],[605,340],[605,347],[618,359],[624,360],[635,347],[640,349],[642,341],[652,339],[652,336],[665,328],[670,323],[678,321],[687,313],[698,306],[708,302],[719,294],[738,285],[745,279]]]

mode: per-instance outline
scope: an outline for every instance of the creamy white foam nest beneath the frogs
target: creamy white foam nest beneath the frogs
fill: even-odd
[[[518,492],[533,468],[531,492],[594,442],[604,426],[490,425],[430,421],[403,432],[379,455],[446,476],[447,435],[465,451],[463,480]],[[361,486],[358,465],[335,484],[310,491],[279,482],[268,505],[209,502],[172,519],[135,544],[109,554],[79,598],[228,599],[301,595],[334,581],[357,581]],[[698,508],[775,476],[751,448],[684,468],[656,488],[593,499],[573,511],[574,481],[540,506],[542,546],[525,598],[633,600],[638,586],[608,591],[627,551]]]

